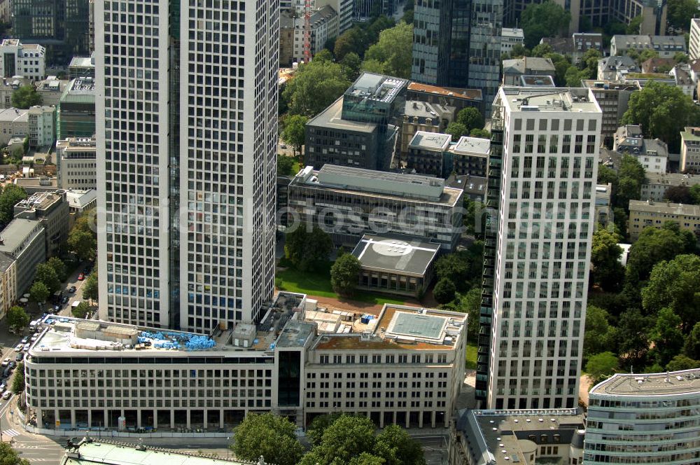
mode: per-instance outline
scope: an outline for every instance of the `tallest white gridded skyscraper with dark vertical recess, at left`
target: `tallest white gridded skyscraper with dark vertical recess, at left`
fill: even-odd
[[[99,315],[206,332],[274,289],[279,2],[97,2]]]

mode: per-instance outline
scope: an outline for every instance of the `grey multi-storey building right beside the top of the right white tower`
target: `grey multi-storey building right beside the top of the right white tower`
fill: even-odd
[[[592,79],[586,79],[581,81],[581,83],[584,87],[593,90],[598,106],[603,111],[603,127],[601,127],[603,144],[612,148],[619,122],[624,112],[627,111],[629,97],[633,92],[641,90],[639,83],[617,83],[609,80]]]

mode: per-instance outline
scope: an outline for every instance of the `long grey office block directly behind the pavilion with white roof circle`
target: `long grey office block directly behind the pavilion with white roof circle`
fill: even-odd
[[[456,247],[462,225],[461,189],[444,179],[324,165],[302,169],[289,183],[290,216],[355,247],[364,234],[399,234]]]

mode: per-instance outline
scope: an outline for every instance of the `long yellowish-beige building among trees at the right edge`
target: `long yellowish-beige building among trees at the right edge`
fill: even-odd
[[[629,240],[632,242],[638,239],[644,228],[652,226],[660,229],[666,221],[677,223],[681,230],[699,234],[700,206],[653,200],[630,200],[628,221],[627,230]]]

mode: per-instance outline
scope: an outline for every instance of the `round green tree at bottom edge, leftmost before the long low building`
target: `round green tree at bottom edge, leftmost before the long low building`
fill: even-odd
[[[233,431],[231,450],[238,459],[265,461],[276,465],[296,465],[303,448],[294,433],[295,424],[272,413],[248,413]]]

